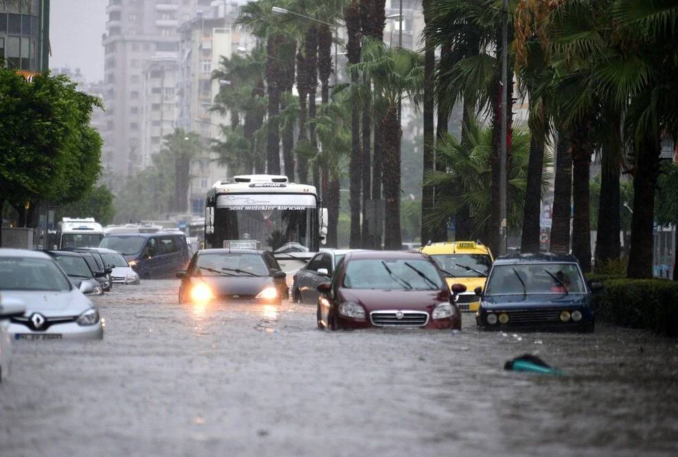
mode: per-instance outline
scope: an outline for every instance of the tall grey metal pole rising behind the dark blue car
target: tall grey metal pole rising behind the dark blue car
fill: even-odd
[[[508,1],[501,1],[501,150],[499,150],[499,252],[508,250],[508,223],[506,221],[506,115],[508,103]]]

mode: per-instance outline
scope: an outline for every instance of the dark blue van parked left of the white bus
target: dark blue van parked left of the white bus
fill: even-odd
[[[186,268],[190,257],[183,233],[158,232],[109,235],[100,248],[124,255],[141,278],[168,278]]]

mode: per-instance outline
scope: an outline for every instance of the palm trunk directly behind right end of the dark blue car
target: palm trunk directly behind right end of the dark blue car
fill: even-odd
[[[587,124],[586,121],[584,124]],[[583,272],[591,271],[591,154],[589,128],[580,126],[572,142],[572,254]]]

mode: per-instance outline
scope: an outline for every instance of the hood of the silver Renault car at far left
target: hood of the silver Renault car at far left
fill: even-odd
[[[92,307],[91,301],[79,290],[70,292],[12,291],[2,292],[3,301],[24,305],[24,316],[38,312],[45,317],[78,316]]]

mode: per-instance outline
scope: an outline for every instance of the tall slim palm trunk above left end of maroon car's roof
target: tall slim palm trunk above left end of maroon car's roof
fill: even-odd
[[[348,32],[348,61],[356,64],[360,61],[360,6],[357,0],[352,0],[345,11],[346,31]],[[351,77],[351,155],[349,164],[350,173],[350,211],[351,232],[350,248],[361,246],[361,186],[362,186],[362,152],[360,148],[360,106],[358,97],[358,80]]]

